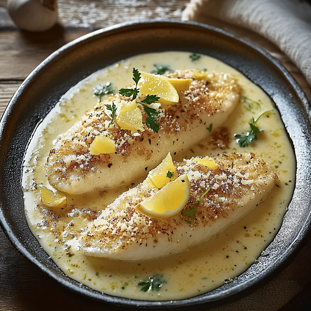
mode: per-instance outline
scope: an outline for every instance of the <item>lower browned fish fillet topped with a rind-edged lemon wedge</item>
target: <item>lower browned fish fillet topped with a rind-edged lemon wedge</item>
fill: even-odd
[[[80,249],[89,256],[124,261],[182,252],[244,217],[267,197],[278,179],[253,153],[221,155],[215,161],[216,169],[197,164],[193,158],[174,164],[178,176],[188,175],[189,200],[198,200],[211,187],[200,203],[186,205],[187,210],[197,207],[195,219],[182,212],[165,220],[138,213],[135,205],[157,191],[147,178],[121,194],[82,232]]]

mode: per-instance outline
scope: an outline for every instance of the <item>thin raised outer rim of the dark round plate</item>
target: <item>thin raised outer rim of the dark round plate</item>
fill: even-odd
[[[290,82],[291,86],[295,89],[295,92],[297,93],[297,96],[299,97],[299,100],[304,105],[304,108],[306,109],[307,113],[309,112],[309,100],[302,90],[302,88],[299,86],[298,82],[295,80],[295,78],[290,74],[290,72],[270,53],[262,49],[257,44],[254,44],[251,41],[248,41],[246,39],[239,38],[238,36],[223,30],[221,28],[211,26],[208,24],[203,24],[195,21],[181,21],[181,20],[174,20],[174,19],[150,19],[150,20],[143,20],[143,21],[134,21],[134,22],[124,22],[120,24],[116,24],[113,26],[108,26],[105,28],[101,28],[99,30],[92,31],[86,35],[83,35],[65,45],[57,49],[55,52],[50,54],[47,58],[45,58],[35,69],[30,72],[30,74],[26,77],[26,79],[21,83],[21,85],[18,87],[14,95],[12,96],[12,99],[9,101],[3,115],[0,121],[0,146],[3,138],[3,133],[5,130],[5,126],[7,123],[7,120],[9,118],[9,115],[11,114],[13,107],[16,104],[16,100],[21,95],[21,93],[26,89],[27,85],[31,83],[31,81],[35,78],[35,76],[43,69],[45,66],[47,66],[50,62],[52,62],[55,58],[58,57],[58,55],[64,53],[66,50],[71,49],[73,46],[77,44],[81,44],[91,38],[95,38],[98,35],[102,35],[105,33],[109,33],[114,30],[120,30],[124,31],[130,26],[138,26],[138,25],[144,25],[149,24],[152,25],[159,25],[159,24],[169,24],[169,25],[190,25],[190,26],[197,26],[201,29],[205,29],[208,31],[212,31],[214,33],[218,33],[221,35],[224,35],[226,37],[235,39],[248,47],[252,48],[253,50],[257,51],[261,55],[263,55],[266,59],[268,59],[273,65],[279,69],[282,74],[285,76],[286,80]],[[309,115],[309,121],[310,121],[310,115]],[[310,123],[310,122],[309,122]],[[61,285],[67,287],[70,290],[73,290],[74,292],[78,292],[79,294],[83,296],[90,297],[92,299],[95,299],[97,301],[101,301],[110,305],[114,306],[122,306],[122,307],[142,307],[142,308],[170,308],[170,307],[185,307],[185,306],[193,306],[197,304],[213,304],[221,300],[225,300],[226,303],[239,299],[246,288],[258,288],[262,283],[267,282],[269,279],[272,278],[272,274],[275,274],[276,272],[280,272],[288,263],[293,256],[297,253],[299,247],[302,246],[303,242],[306,239],[306,236],[308,234],[308,231],[310,231],[310,216],[311,213],[308,215],[307,219],[304,222],[304,225],[302,229],[297,233],[297,236],[299,235],[299,244],[295,247],[290,249],[290,246],[295,245],[295,241],[292,242],[292,244],[286,249],[286,251],[278,258],[277,266],[270,272],[264,273],[267,268],[265,268],[261,272],[261,276],[257,276],[257,281],[248,284],[250,281],[253,280],[254,277],[248,279],[243,284],[237,285],[234,290],[230,290],[230,293],[226,293],[226,297],[221,298],[217,297],[216,294],[211,295],[210,297],[203,297],[203,295],[195,296],[192,298],[186,298],[186,299],[180,299],[180,300],[163,300],[163,301],[149,301],[149,300],[137,300],[137,299],[128,299],[123,297],[117,297],[117,296],[111,296],[108,294],[103,294],[101,292],[95,291],[91,289],[92,291],[88,289],[84,289],[82,287],[79,287],[78,285],[75,285],[73,283],[70,283],[70,281],[67,281],[59,276],[57,276],[54,272],[52,272],[47,266],[42,264],[35,256],[33,256],[30,251],[26,249],[26,247],[19,241],[19,239],[13,234],[10,225],[8,224],[4,213],[2,211],[2,206],[0,205],[0,225],[6,234],[9,241],[13,244],[13,246],[24,256],[26,257],[30,262],[34,263],[41,271],[48,274],[50,277],[52,277],[54,280],[56,280]],[[309,222],[309,225],[308,225]],[[213,297],[214,296],[214,297]],[[215,297],[216,296],[216,297]],[[205,306],[206,308],[207,306]]]

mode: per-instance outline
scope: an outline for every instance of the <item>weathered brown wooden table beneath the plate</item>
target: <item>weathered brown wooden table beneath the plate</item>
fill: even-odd
[[[0,0],[0,116],[17,87],[32,69],[62,45],[92,30],[124,21],[179,19],[187,2],[188,0],[59,0],[61,25],[45,33],[34,34],[18,30],[7,14],[6,1]],[[311,98],[310,85],[272,43],[250,31],[219,21],[211,20],[209,23],[261,45],[290,70]],[[302,290],[310,290],[310,250],[311,239],[275,279],[253,294],[214,310],[279,310]],[[294,302],[282,310],[296,309]],[[72,293],[46,276],[10,244],[0,228],[0,310],[35,311],[41,308],[105,309],[102,304]]]

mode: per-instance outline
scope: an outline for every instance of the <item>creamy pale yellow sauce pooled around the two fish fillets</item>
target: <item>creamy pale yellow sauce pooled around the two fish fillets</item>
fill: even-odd
[[[36,129],[25,156],[22,187],[25,190],[25,213],[30,229],[43,249],[69,277],[109,295],[142,299],[183,299],[206,293],[238,277],[251,264],[260,260],[263,249],[272,241],[281,226],[291,200],[296,163],[285,128],[271,99],[234,68],[215,58],[202,55],[192,61],[191,53],[165,52],[138,55],[105,68],[81,81],[69,90]],[[262,157],[279,176],[279,182],[267,199],[243,219],[207,242],[183,253],[146,262],[114,261],[88,257],[79,252],[77,239],[81,228],[95,219],[102,209],[118,194],[132,186],[67,195],[63,209],[44,208],[38,199],[39,187],[49,186],[46,161],[56,138],[70,128],[80,116],[93,107],[98,97],[94,88],[110,82],[115,90],[132,84],[132,68],[145,72],[154,70],[154,64],[175,69],[207,69],[231,73],[243,87],[244,96],[223,128],[212,128],[211,137],[183,154],[173,155],[181,161],[196,155],[215,156],[218,153],[254,152]],[[257,103],[250,101],[256,101]],[[247,147],[239,147],[234,134],[246,133],[248,121],[264,111],[272,110],[259,121],[264,132]],[[146,172],[147,174],[147,172]],[[59,193],[59,192],[58,192]],[[156,276],[162,280],[157,290],[144,292],[140,282]]]

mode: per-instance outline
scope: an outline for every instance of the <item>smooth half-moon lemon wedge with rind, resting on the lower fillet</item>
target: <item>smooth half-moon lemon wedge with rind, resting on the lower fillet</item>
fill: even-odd
[[[148,217],[165,219],[178,214],[187,204],[189,196],[190,182],[188,176],[183,174],[137,204],[135,209]]]

